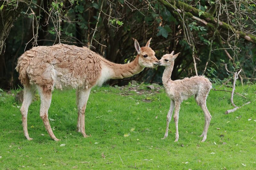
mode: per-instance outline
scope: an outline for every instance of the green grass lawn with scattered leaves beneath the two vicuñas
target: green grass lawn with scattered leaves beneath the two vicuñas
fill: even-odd
[[[170,106],[162,87],[154,91],[146,85],[93,88],[85,116],[85,132],[91,134],[88,138],[76,132],[75,91],[54,91],[49,118],[59,142],[44,128],[39,100],[29,107],[28,133],[34,140],[27,141],[20,105],[14,96],[3,94],[0,169],[255,169],[255,89],[256,85],[236,87],[248,100],[235,95],[235,104],[252,103],[229,115],[224,113],[232,108],[230,93],[211,90],[207,106],[212,121],[204,143],[198,137],[204,128],[204,114],[193,98],[181,105],[179,141],[174,143],[173,119],[169,136],[161,139]]]

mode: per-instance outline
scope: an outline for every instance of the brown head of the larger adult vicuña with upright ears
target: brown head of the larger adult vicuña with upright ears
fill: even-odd
[[[149,47],[150,38],[145,47],[140,47],[139,42],[135,39],[134,46],[139,55],[139,64],[142,67],[156,68],[158,60],[155,56],[155,52]]]

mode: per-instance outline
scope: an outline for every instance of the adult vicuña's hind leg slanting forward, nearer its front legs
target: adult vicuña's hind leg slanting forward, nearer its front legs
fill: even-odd
[[[40,117],[42,118],[44,126],[50,137],[55,141],[59,141],[60,139],[57,139],[53,134],[52,128],[48,120],[48,110],[52,101],[52,92],[50,90],[44,92],[43,87],[38,87],[38,91],[41,99]]]

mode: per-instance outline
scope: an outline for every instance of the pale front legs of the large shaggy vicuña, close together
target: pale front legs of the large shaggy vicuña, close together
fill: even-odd
[[[82,89],[77,90],[76,92],[76,103],[77,103],[77,110],[78,110],[78,118],[77,118],[77,131],[81,132],[84,137],[88,137],[85,133],[85,123],[84,123],[84,112],[86,109],[87,101],[89,99],[91,89]]]

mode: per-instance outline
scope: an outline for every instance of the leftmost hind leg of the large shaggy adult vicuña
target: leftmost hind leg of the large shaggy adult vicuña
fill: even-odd
[[[27,124],[27,117],[28,117],[28,107],[30,106],[33,98],[35,96],[34,89],[31,87],[24,86],[24,95],[23,95],[23,102],[20,108],[20,112],[22,115],[22,127],[24,131],[24,135],[28,140],[32,140],[28,135],[28,124]]]

